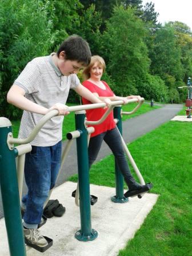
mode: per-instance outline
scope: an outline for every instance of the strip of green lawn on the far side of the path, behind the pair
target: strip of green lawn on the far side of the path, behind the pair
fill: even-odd
[[[75,106],[75,104],[73,103],[67,103],[67,106]],[[134,109],[134,107],[137,106],[137,103],[129,103],[126,106],[123,106],[123,111],[131,111]],[[134,113],[133,115],[123,115],[123,121],[125,119],[128,118],[132,118],[135,117],[137,115],[141,115],[146,113],[147,111],[151,111],[154,109],[158,109],[159,106],[154,106],[154,107],[150,107],[149,104],[147,103],[143,103],[143,105],[137,110],[136,113]],[[12,121],[11,122],[13,125],[13,136],[14,138],[18,137],[18,131],[19,131],[19,125],[20,125],[20,121]],[[63,121],[63,140],[66,139],[66,134],[69,131],[74,131],[75,130],[75,114],[74,112],[71,112],[69,115],[66,115]]]

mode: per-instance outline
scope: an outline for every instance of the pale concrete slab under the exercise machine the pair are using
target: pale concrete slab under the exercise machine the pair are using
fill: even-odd
[[[66,213],[62,217],[47,219],[46,225],[41,227],[41,234],[52,238],[53,246],[43,254],[27,246],[27,256],[118,255],[118,251],[134,237],[158,198],[156,194],[147,193],[141,199],[134,197],[127,203],[114,203],[110,199],[115,195],[114,188],[90,185],[91,194],[98,197],[98,202],[91,206],[91,226],[98,231],[98,237],[94,241],[81,242],[74,237],[81,228],[79,207],[71,197],[76,187],[76,183],[65,182],[54,189],[51,199],[58,199],[66,207]],[[0,255],[8,256],[4,219],[0,221],[0,230]]]

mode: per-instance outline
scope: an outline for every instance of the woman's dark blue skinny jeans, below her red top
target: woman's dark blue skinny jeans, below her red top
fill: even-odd
[[[116,126],[112,130],[105,131],[104,133],[98,134],[95,137],[90,138],[88,147],[89,167],[91,167],[93,162],[96,160],[99,150],[101,149],[101,144],[103,141],[105,141],[113,152],[118,168],[121,171],[125,182],[128,184],[133,176],[131,175],[123,144],[121,141],[121,136],[117,129],[118,128]]]

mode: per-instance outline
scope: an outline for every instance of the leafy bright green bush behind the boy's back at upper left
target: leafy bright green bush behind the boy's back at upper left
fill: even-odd
[[[21,111],[6,102],[6,94],[23,67],[47,55],[55,34],[47,15],[49,1],[4,0],[0,5],[0,115],[18,118]]]

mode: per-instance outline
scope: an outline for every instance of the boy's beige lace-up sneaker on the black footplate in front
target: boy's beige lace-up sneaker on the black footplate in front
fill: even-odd
[[[40,235],[39,229],[25,229],[25,227],[23,227],[23,232],[27,242],[33,243],[33,245],[40,247],[45,247],[48,245],[46,239]]]

